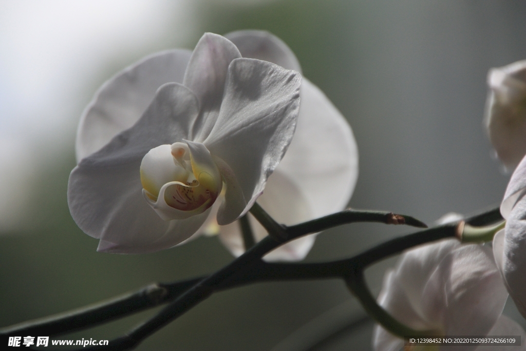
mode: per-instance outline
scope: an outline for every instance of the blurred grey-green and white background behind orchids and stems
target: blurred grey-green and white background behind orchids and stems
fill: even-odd
[[[497,205],[509,175],[482,128],[490,67],[526,58],[519,1],[0,1],[0,326],[150,282],[206,274],[232,257],[217,238],[148,255],[96,253],[66,188],[83,108],[100,84],[204,32],[266,29],[346,116],[360,175],[350,206],[432,223]],[[307,261],[349,257],[409,228],[348,225]],[[378,293],[391,258],[369,269]],[[64,338],[111,339],[154,311]],[[505,313],[524,326],[509,304]],[[139,350],[367,350],[372,323],[339,280],[214,294]]]

